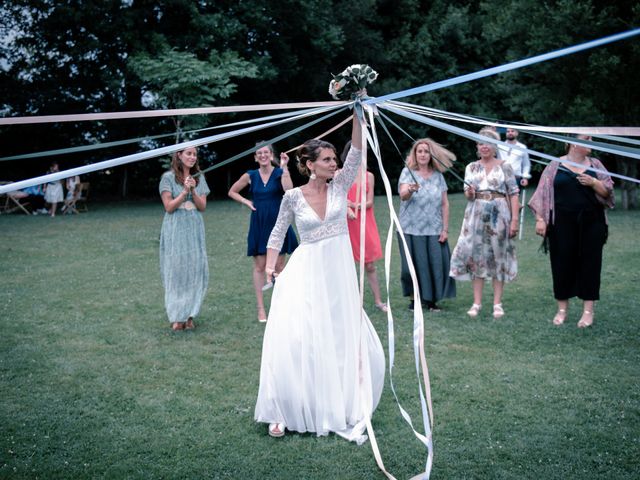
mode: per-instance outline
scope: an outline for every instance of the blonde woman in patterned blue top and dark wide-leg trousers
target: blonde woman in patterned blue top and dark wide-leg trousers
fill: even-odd
[[[455,281],[449,276],[449,198],[445,172],[456,156],[430,138],[417,140],[407,156],[406,167],[398,180],[399,220],[418,280],[422,304],[432,312],[436,302],[456,296]],[[413,281],[404,247],[400,281],[402,293],[413,296]],[[413,310],[413,299],[409,309]]]

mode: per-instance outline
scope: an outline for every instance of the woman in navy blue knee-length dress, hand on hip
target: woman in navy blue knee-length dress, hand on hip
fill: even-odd
[[[287,168],[289,157],[286,153],[281,153],[280,167],[276,167],[273,164],[274,156],[275,152],[271,145],[263,145],[258,148],[254,159],[259,168],[242,174],[229,189],[229,197],[251,210],[247,236],[247,256],[253,257],[253,286],[256,291],[259,322],[267,321],[262,294],[262,287],[265,284],[267,241],[278,218],[282,196],[285,191],[293,188],[291,175]],[[251,200],[240,195],[240,192],[247,186],[251,192]],[[291,254],[297,246],[296,235],[289,227],[276,264],[277,272],[280,272],[284,267],[285,253]]]

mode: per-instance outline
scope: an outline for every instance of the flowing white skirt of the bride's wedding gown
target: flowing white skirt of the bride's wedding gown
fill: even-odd
[[[255,419],[360,444],[384,371],[380,339],[360,308],[348,235],[301,244],[275,283]]]

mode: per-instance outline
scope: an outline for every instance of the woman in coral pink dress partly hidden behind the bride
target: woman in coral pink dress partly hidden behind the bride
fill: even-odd
[[[342,152],[342,157],[346,157],[347,152],[351,147],[349,142],[345,150]],[[344,161],[344,158],[343,158]],[[356,262],[360,261],[360,195],[362,191],[361,186],[362,171],[358,172],[356,180],[351,185],[349,192],[347,193],[347,226],[349,227],[349,239],[351,240],[351,249],[353,250],[353,258]],[[380,297],[380,285],[378,283],[378,273],[376,272],[377,260],[382,258],[382,247],[380,245],[380,235],[378,234],[378,226],[376,225],[376,217],[373,214],[373,187],[375,184],[375,177],[373,173],[367,172],[366,174],[366,202],[365,202],[365,215],[366,223],[364,230],[364,268],[367,272],[367,280],[369,280],[369,286],[373,293],[373,301],[376,308],[387,311],[387,304],[382,301]]]

